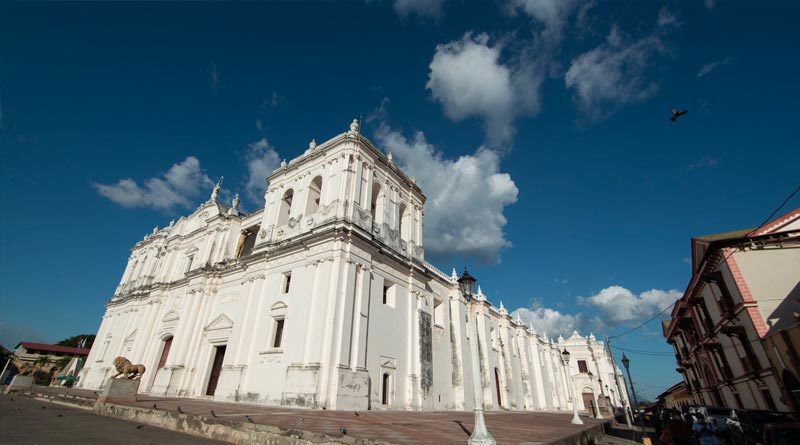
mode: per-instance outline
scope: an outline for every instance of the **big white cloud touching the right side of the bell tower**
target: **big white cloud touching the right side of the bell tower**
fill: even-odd
[[[383,121],[375,136],[427,196],[426,253],[497,261],[500,249],[511,245],[503,232],[503,211],[517,201],[518,193],[511,176],[500,172],[499,155],[481,147],[471,155],[446,159],[422,132],[409,140]]]

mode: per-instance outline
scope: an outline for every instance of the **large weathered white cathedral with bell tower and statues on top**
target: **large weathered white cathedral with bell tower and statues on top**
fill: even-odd
[[[266,179],[263,209],[221,204],[217,185],[136,243],[79,387],[103,387],[124,356],[147,367],[139,392],[160,396],[338,410],[626,406],[594,336],[554,342],[425,261],[425,195],[357,121]]]

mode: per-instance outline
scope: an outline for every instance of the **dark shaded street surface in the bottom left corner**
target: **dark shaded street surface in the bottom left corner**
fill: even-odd
[[[44,407],[44,408],[43,408]],[[222,444],[91,411],[0,395],[0,444]]]

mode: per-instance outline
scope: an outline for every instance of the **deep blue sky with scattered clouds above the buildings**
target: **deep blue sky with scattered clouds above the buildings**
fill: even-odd
[[[219,176],[260,207],[265,171],[359,116],[421,178],[429,260],[553,337],[622,332],[683,291],[691,236],[756,226],[797,186],[798,12],[3,2],[0,343],[94,332],[153,226]],[[615,345],[670,352],[657,322]],[[629,355],[645,395],[679,379]]]

